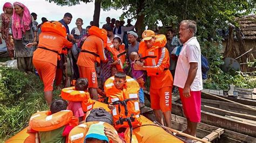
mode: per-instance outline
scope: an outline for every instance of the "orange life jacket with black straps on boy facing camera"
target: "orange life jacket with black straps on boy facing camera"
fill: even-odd
[[[115,109],[112,110],[114,127],[134,127],[142,124],[139,110],[139,84],[133,78],[126,76],[124,89],[117,89],[113,83],[114,76],[106,80],[104,91],[109,102],[113,103]]]

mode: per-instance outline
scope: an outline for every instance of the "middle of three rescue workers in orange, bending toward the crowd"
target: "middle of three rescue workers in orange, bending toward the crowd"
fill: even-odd
[[[77,59],[80,77],[87,78],[89,81],[88,88],[93,99],[98,99],[98,81],[95,69],[95,62],[100,60],[107,61],[104,48],[107,42],[107,32],[96,26],[89,29],[89,36],[84,41]]]

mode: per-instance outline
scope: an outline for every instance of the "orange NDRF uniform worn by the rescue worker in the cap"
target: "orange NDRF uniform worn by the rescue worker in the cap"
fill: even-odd
[[[151,77],[151,108],[163,112],[171,111],[173,78],[169,70],[168,50],[165,47],[157,47],[156,50],[146,49],[142,55],[147,57],[144,66],[146,66],[147,75]]]

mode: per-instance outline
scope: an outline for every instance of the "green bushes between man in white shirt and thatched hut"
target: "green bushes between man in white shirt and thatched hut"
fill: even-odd
[[[202,54],[207,56],[210,64],[208,71],[208,78],[204,83],[206,89],[228,89],[230,84],[234,84],[240,88],[254,88],[256,87],[256,79],[251,76],[243,77],[240,73],[224,73],[220,66],[223,65],[223,56],[220,50],[223,48],[221,44],[213,45],[212,42],[201,42]]]

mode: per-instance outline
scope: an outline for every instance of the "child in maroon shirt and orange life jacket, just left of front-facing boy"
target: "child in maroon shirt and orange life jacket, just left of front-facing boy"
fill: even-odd
[[[75,82],[75,88],[69,87],[62,89],[62,98],[69,101],[68,110],[71,110],[79,122],[83,121],[84,112],[93,108],[93,101],[90,98],[87,78],[78,78]]]

